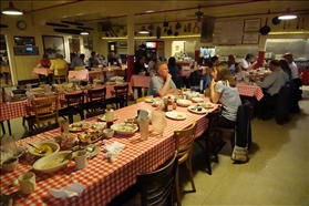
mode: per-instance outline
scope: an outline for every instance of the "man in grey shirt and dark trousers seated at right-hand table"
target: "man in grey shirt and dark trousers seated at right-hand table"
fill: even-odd
[[[270,105],[276,105],[278,93],[286,84],[286,75],[280,68],[280,62],[278,60],[271,60],[269,63],[269,70],[272,72],[264,82],[258,81],[257,84],[264,89],[264,97],[261,99],[258,109],[260,110],[260,117],[268,120],[270,115]]]

